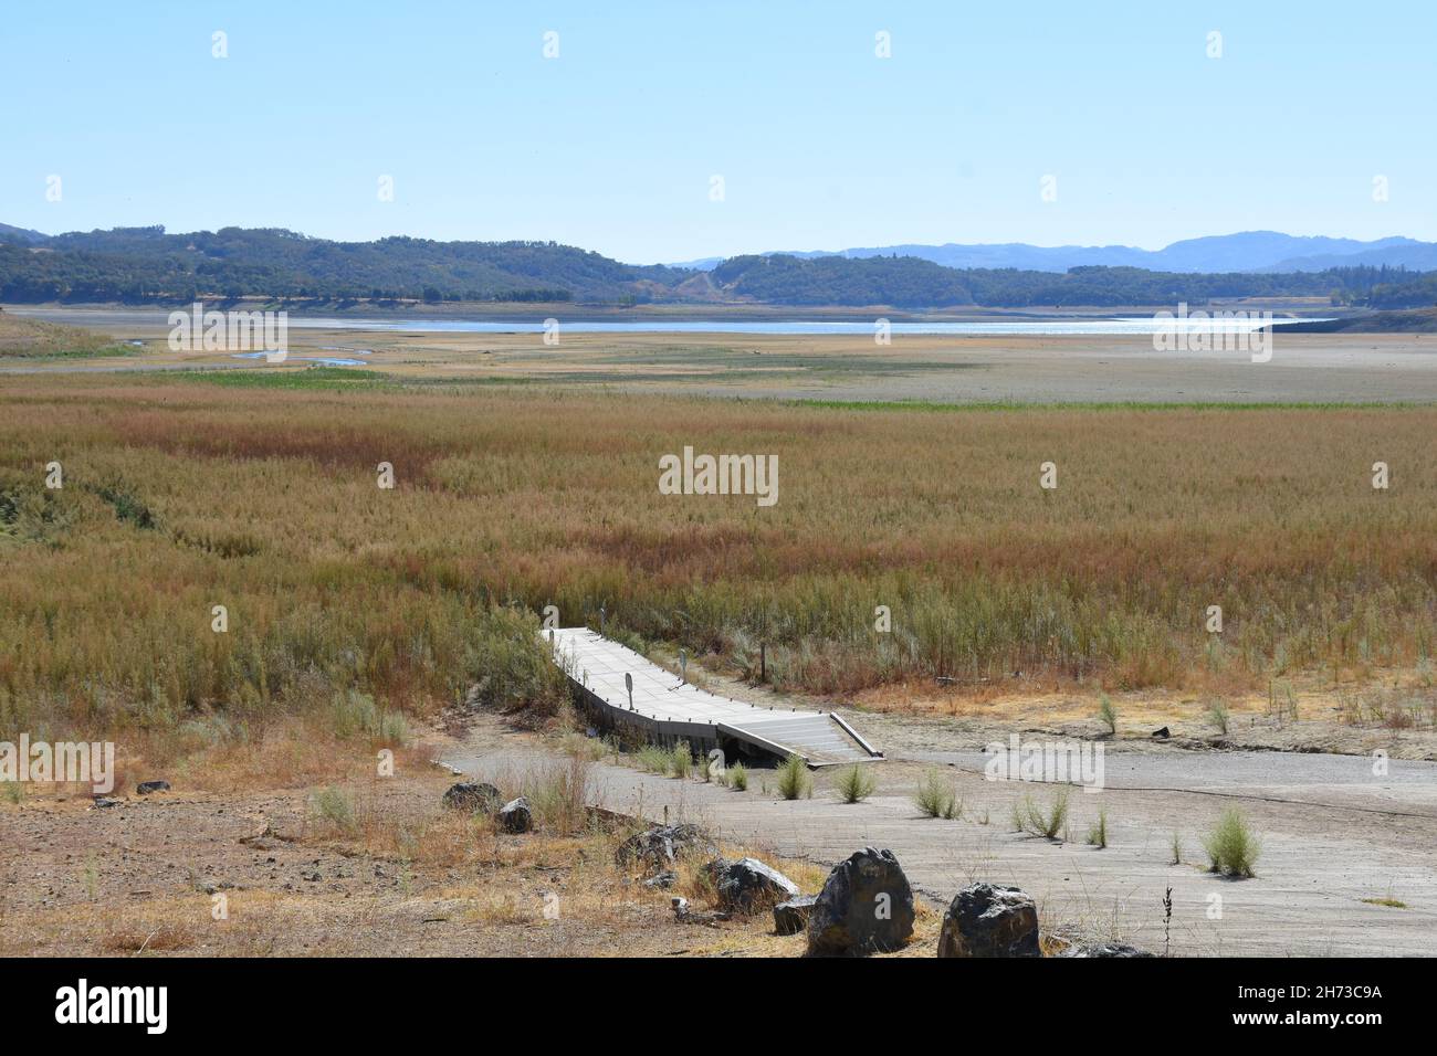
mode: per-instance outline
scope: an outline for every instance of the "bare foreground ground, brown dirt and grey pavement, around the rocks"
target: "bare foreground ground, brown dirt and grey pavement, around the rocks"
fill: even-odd
[[[810,797],[789,802],[763,767],[739,792],[642,773],[612,754],[582,764],[583,799],[697,822],[727,853],[763,858],[809,892],[854,851],[887,846],[923,905],[900,955],[933,955],[943,907],[977,879],[1029,891],[1055,944],[1121,940],[1180,955],[1430,953],[1433,763],[1394,760],[1378,777],[1362,756],[1117,741],[1104,789],[1066,789],[1069,819],[1046,839],[1015,830],[1012,813],[1023,802],[1046,809],[1063,787],[984,780],[980,753],[946,751],[933,737],[953,718],[874,718],[854,714],[890,757],[869,767],[877,790],[862,803],[839,802],[835,770],[815,772]],[[923,750],[897,747],[897,731]],[[608,751],[575,736],[565,747],[575,740]],[[625,829],[513,836],[441,807],[456,780],[448,767],[516,789],[575,766],[553,736],[481,713],[431,731],[414,757],[394,777],[351,776],[333,787],[220,793],[191,776],[168,793],[125,790],[111,807],[73,792],[7,799],[0,955],[802,955],[802,937],[773,935],[766,914],[678,922],[668,892],[614,866]],[[934,774],[956,795],[953,819],[914,806],[914,790]],[[320,806],[335,789],[352,812],[342,823]],[[1252,879],[1206,868],[1203,835],[1232,805],[1260,839]],[[1088,842],[1099,813],[1105,848]],[[704,905],[691,876],[678,891]]]

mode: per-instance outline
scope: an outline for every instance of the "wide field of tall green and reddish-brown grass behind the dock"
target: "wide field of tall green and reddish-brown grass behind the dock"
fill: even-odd
[[[861,409],[371,372],[9,376],[0,737],[121,734],[178,759],[292,715],[382,740],[395,715],[466,694],[552,708],[562,687],[532,634],[549,603],[565,625],[602,605],[611,629],[741,674],[766,644],[770,682],[815,694],[1430,684],[1433,435],[1430,407]],[[658,458],[685,445],[777,455],[777,503],[660,494]]]

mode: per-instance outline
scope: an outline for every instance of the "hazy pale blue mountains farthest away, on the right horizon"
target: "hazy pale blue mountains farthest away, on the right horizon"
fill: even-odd
[[[1413,238],[1296,237],[1279,231],[1240,231],[1204,238],[1175,241],[1161,250],[1132,246],[1029,246],[1026,243],[925,246],[902,243],[868,249],[829,251],[782,251],[782,256],[815,259],[918,257],[944,267],[1016,267],[1030,272],[1066,272],[1073,267],[1141,267],[1150,272],[1325,272],[1331,267],[1367,266],[1437,270],[1437,243]],[[690,267],[710,269],[713,259],[690,261]]]

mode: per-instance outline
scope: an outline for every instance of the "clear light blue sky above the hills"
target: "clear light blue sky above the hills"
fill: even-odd
[[[0,221],[553,238],[644,263],[1250,228],[1437,240],[1434,11],[11,3]]]

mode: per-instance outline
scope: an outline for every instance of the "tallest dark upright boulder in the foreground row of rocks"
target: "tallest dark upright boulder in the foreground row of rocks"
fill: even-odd
[[[833,866],[809,911],[808,951],[835,957],[901,948],[912,935],[912,888],[892,851],[864,848]]]

